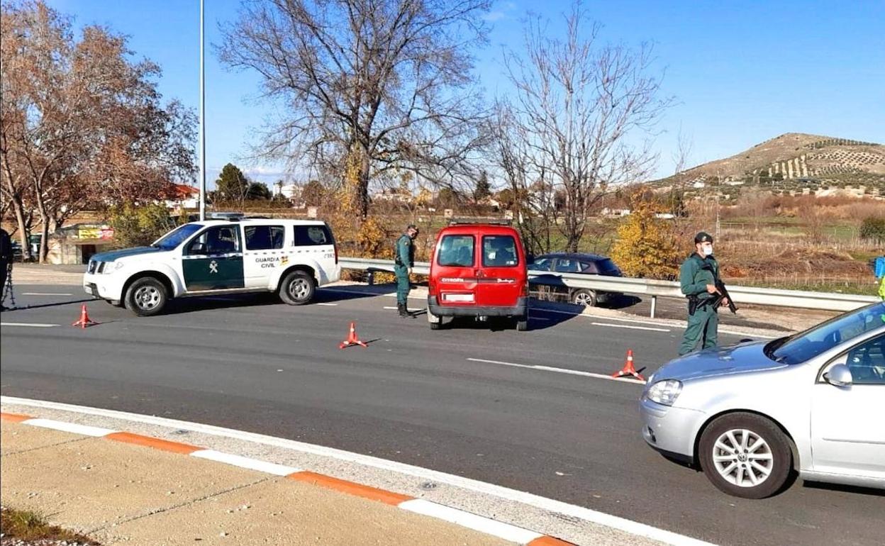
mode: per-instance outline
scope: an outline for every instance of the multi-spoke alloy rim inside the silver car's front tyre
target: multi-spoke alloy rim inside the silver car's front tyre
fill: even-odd
[[[762,436],[744,428],[728,430],[713,444],[713,465],[722,479],[741,488],[754,488],[774,468],[771,447]]]

